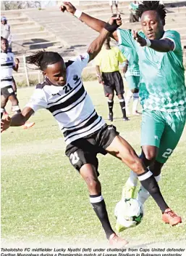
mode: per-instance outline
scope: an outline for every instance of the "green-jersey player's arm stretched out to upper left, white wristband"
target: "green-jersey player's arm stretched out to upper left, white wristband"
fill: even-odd
[[[77,10],[69,1],[64,1],[64,4],[61,7],[61,11],[67,11],[71,13],[79,20],[83,21],[83,23],[88,25],[88,27],[93,28],[94,31],[97,31],[99,33],[101,33],[101,30],[106,25],[106,23],[103,20],[98,20],[95,17],[91,17],[90,15],[85,14],[85,12]],[[120,20],[119,25],[122,25],[122,20]],[[118,41],[117,31],[111,33],[111,37]]]

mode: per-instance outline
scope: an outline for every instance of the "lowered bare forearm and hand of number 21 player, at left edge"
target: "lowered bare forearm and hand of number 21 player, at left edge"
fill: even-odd
[[[1,119],[1,132],[4,132],[9,127],[20,127],[25,124],[30,116],[34,113],[32,108],[25,107],[22,109],[21,113],[17,113],[16,115],[10,118],[9,116],[5,117],[5,119]]]

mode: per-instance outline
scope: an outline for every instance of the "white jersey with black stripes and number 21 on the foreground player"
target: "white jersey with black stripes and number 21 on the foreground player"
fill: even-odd
[[[88,60],[87,52],[74,61],[69,60],[65,63],[67,84],[58,87],[45,79],[42,84],[36,86],[30,102],[26,105],[33,111],[41,108],[50,111],[58,122],[67,145],[96,132],[105,124],[101,116],[96,113],[81,80],[81,73]]]

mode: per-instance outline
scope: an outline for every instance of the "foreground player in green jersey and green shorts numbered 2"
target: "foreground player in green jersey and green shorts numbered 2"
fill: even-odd
[[[76,17],[98,32],[106,24],[76,10],[69,2],[64,2],[64,5],[72,15],[78,11]],[[142,31],[117,29],[111,37],[138,54],[143,105],[140,158],[158,181],[161,168],[174,151],[185,127],[186,88],[182,47],[177,31],[164,31],[166,10],[159,1],[143,1],[138,7],[138,15]],[[123,195],[131,197],[136,185],[137,177],[131,172]],[[144,188],[141,191],[143,195],[146,193]],[[162,217],[165,223],[177,225],[182,222],[171,209],[166,209],[165,213]]]

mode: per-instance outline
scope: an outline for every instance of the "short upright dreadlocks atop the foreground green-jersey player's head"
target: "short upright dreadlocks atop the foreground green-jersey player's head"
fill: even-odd
[[[165,21],[166,9],[164,4],[159,4],[159,1],[143,1],[143,3],[139,5],[136,14],[141,17],[143,15],[143,12],[153,10],[158,12],[161,20]]]

